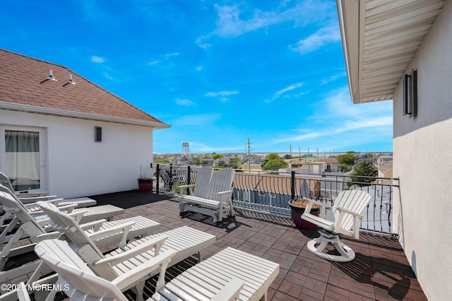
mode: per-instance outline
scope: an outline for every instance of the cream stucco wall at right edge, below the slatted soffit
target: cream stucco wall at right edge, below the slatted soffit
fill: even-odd
[[[448,1],[406,72],[417,70],[417,117],[394,97],[394,225],[429,300],[452,295],[452,3]]]

